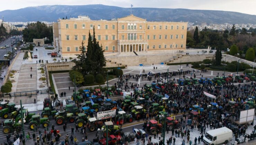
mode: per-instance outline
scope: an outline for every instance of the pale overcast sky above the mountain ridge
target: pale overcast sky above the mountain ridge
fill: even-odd
[[[128,8],[184,8],[200,10],[235,11],[256,15],[256,0],[4,0],[0,11],[43,5],[104,4]]]

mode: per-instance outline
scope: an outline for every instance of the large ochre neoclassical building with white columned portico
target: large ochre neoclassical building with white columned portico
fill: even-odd
[[[54,46],[63,56],[79,54],[89,31],[105,52],[182,50],[186,48],[187,22],[151,22],[132,14],[113,20],[91,20],[88,16],[58,19],[53,23]]]

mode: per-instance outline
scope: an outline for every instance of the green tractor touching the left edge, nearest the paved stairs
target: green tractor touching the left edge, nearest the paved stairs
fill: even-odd
[[[2,110],[0,110],[0,117],[3,117],[3,118],[14,118],[16,115],[18,115],[18,108],[15,107],[15,103],[8,103],[7,104],[7,108],[4,108]],[[9,114],[11,114],[13,116],[9,116]]]

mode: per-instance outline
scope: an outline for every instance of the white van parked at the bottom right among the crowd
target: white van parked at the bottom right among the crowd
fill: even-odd
[[[232,131],[227,127],[221,127],[206,132],[203,142],[207,145],[227,144],[232,139]]]

